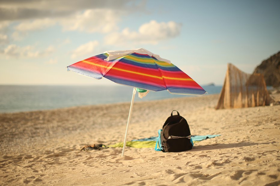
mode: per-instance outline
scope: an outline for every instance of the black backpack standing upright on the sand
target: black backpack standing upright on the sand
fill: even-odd
[[[173,111],[178,115],[173,116]],[[163,124],[161,138],[161,150],[163,152],[181,152],[191,150],[193,144],[191,143],[190,127],[187,120],[184,119],[177,110],[173,110],[171,116],[166,119]]]

